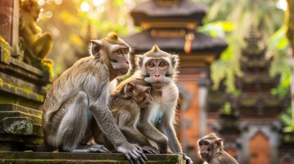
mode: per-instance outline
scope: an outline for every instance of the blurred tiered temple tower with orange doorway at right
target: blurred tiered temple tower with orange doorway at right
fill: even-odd
[[[265,57],[267,49],[260,43],[258,31],[250,29],[245,41],[247,45],[240,57],[243,76],[235,76],[241,94],[225,94],[222,87],[210,92],[208,113],[215,120],[210,128],[223,137],[225,149],[239,163],[278,163],[282,128],[278,115],[287,103],[271,94],[279,76],[269,75],[271,58]],[[219,111],[226,102],[230,103],[229,113]]]

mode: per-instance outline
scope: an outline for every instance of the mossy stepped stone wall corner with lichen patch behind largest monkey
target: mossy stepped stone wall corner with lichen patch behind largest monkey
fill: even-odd
[[[42,143],[42,137],[42,111],[0,104],[0,150],[21,150],[23,143]]]

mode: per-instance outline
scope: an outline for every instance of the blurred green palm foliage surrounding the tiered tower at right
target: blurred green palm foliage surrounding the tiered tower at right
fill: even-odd
[[[281,75],[278,87],[273,88],[271,93],[277,94],[280,98],[289,96],[290,87],[291,85],[294,86],[294,81],[291,81],[294,64],[293,54],[290,51],[290,45],[294,46],[294,13],[293,9],[290,10],[290,6],[294,6],[294,1],[287,0],[289,5],[286,12],[286,25],[283,18],[284,11],[281,10],[286,3],[283,0],[199,0],[199,3],[201,2],[210,6],[210,8],[208,9],[208,16],[206,16],[206,23],[208,24],[201,27],[206,30],[200,28],[200,31],[204,31],[210,36],[223,37],[229,44],[228,49],[221,54],[220,59],[211,66],[213,89],[217,90],[220,81],[225,79],[227,92],[239,93],[234,87],[234,74],[242,76],[238,59],[244,46],[243,38],[249,28],[254,27],[262,34],[264,45],[267,47],[267,57],[273,57],[270,68],[271,76]],[[223,8],[223,6],[226,6],[226,8]],[[228,8],[232,8],[232,10],[226,10]],[[220,20],[230,21],[233,24],[230,27],[234,28],[228,30],[228,28],[225,28],[226,26],[219,25],[225,23],[220,22]],[[213,25],[215,27],[212,27]],[[225,25],[228,25],[228,23],[225,23]],[[291,41],[290,45],[288,39]],[[223,108],[226,109],[226,107]],[[284,131],[294,131],[294,116],[291,109],[292,107],[289,105],[289,108],[280,114],[280,120],[286,125]]]

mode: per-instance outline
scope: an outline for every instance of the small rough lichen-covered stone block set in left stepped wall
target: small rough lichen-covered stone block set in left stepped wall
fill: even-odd
[[[25,117],[10,117],[3,120],[3,131],[13,135],[32,135],[33,120]]]

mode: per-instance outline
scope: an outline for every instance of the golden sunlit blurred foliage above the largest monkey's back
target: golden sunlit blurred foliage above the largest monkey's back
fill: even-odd
[[[56,77],[79,57],[88,55],[90,39],[103,38],[110,31],[124,36],[138,30],[132,27],[128,12],[139,1],[38,0],[43,8],[38,24],[53,35],[49,58],[55,61]]]

